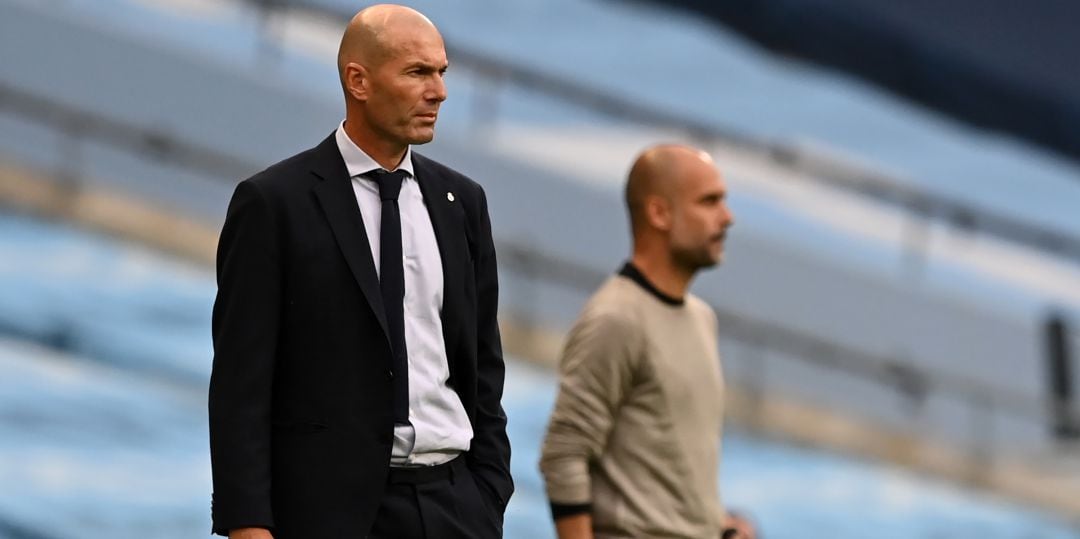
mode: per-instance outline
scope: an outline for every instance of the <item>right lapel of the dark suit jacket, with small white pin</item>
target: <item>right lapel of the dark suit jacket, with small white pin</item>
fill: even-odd
[[[431,226],[438,242],[438,256],[443,260],[443,341],[446,343],[446,359],[451,363],[456,354],[454,336],[464,294],[464,264],[468,244],[464,235],[464,210],[461,201],[438,171],[423,156],[413,152],[413,167],[416,172],[420,192],[423,194]],[[454,369],[450,369],[453,376]]]

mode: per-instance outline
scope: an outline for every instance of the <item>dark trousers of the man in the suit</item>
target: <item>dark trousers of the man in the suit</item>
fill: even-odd
[[[496,514],[473,480],[464,457],[419,469],[391,469],[372,539],[495,539]]]

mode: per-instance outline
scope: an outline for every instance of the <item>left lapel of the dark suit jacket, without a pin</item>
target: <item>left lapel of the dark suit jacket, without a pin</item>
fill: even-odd
[[[326,213],[326,220],[334,231],[338,247],[375,316],[379,320],[382,333],[389,335],[372,246],[368,243],[360,206],[356,204],[356,194],[352,190],[352,181],[333,134],[315,147],[311,172],[322,179],[314,187],[315,198]]]

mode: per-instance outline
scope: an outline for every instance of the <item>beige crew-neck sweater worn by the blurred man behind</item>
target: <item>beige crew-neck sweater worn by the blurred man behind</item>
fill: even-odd
[[[540,459],[552,503],[591,504],[597,538],[720,536],[724,379],[704,301],[612,277],[571,329],[559,378]]]

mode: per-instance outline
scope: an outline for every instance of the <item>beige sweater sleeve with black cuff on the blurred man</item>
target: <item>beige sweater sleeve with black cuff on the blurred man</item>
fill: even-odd
[[[586,313],[571,329],[540,456],[553,504],[592,501],[589,463],[604,454],[618,408],[633,387],[639,339],[622,312]]]

